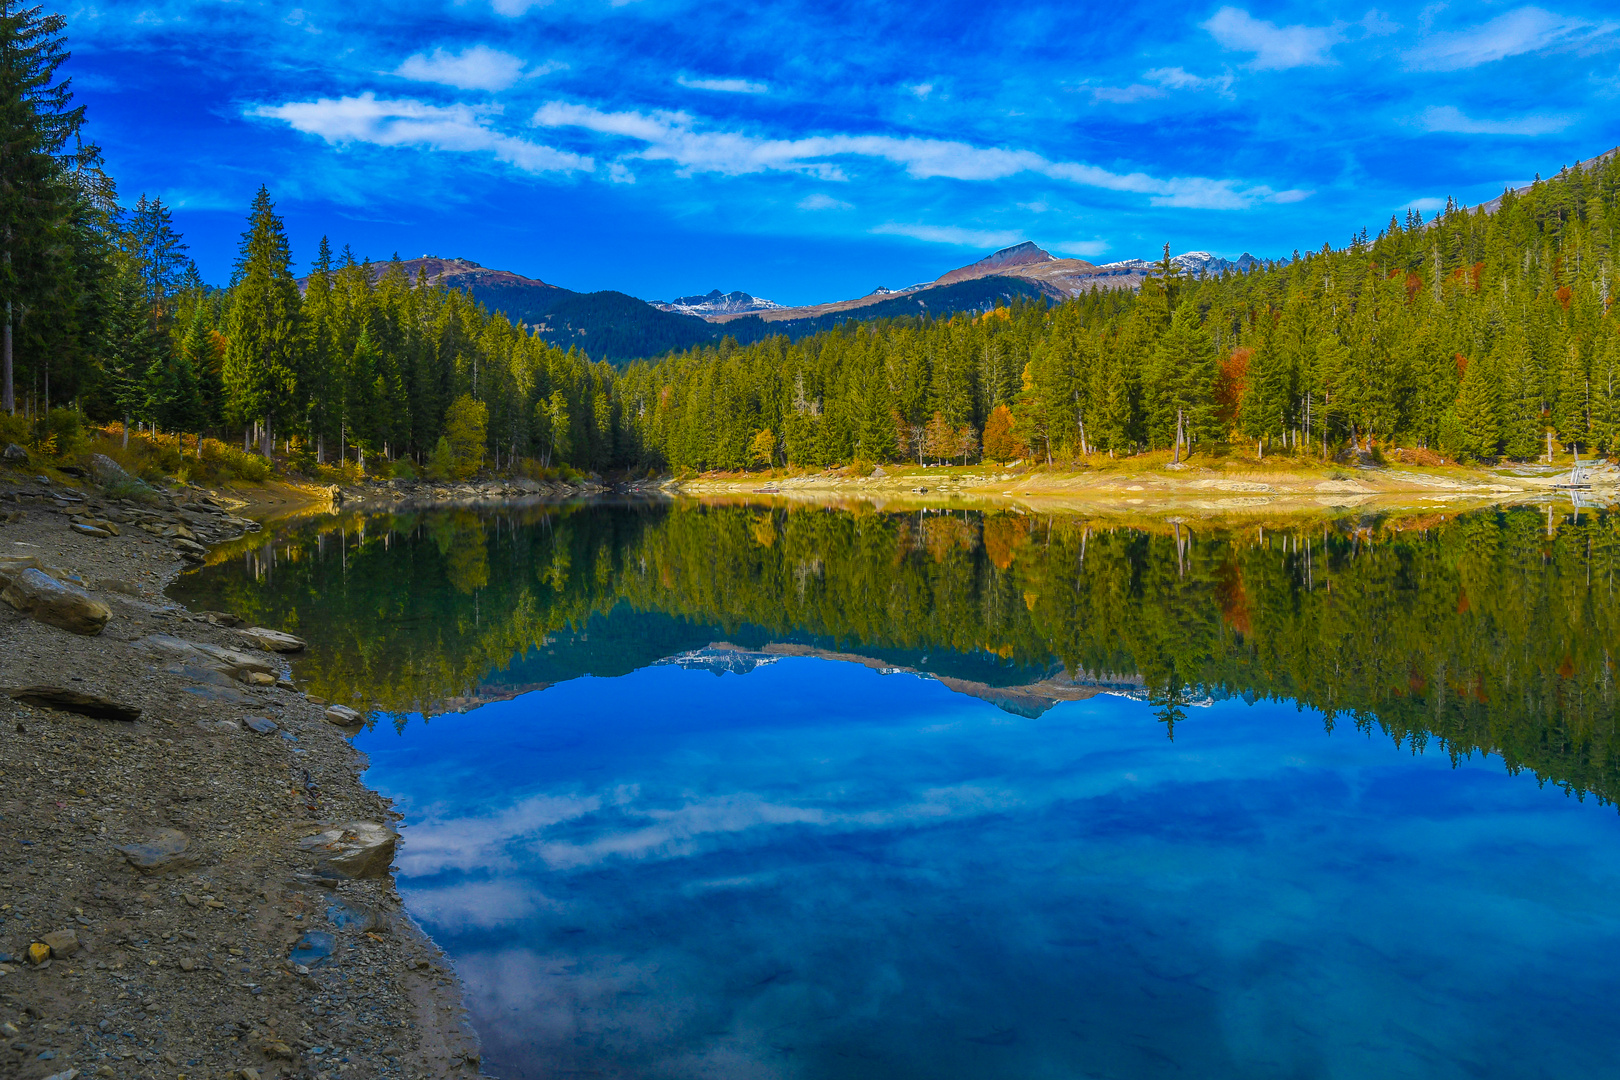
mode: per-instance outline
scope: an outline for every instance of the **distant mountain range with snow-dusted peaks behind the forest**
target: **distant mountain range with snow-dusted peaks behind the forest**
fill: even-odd
[[[1247,253],[1228,261],[1207,251],[1179,254],[1174,262],[1194,275],[1247,272],[1259,266],[1259,259]],[[373,272],[381,275],[387,266],[373,264]],[[625,361],[706,345],[721,337],[747,345],[778,334],[805,337],[849,319],[922,314],[940,319],[959,311],[988,311],[1016,300],[1068,300],[1094,287],[1137,288],[1153,264],[1128,259],[1094,266],[1084,259],[1056,259],[1034,243],[1021,243],[932,282],[904,288],[878,287],[855,300],[799,308],[718,288],[671,301],[643,301],[612,290],[577,293],[471,259],[431,254],[403,259],[402,267],[411,282],[426,274],[431,282],[465,290],[475,301],[504,313],[559,348],[577,345],[593,359]],[[306,280],[298,282],[300,288]]]

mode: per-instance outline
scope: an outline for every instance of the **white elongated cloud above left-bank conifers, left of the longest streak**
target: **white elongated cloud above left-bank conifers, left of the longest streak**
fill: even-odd
[[[486,117],[496,108],[471,105],[429,105],[411,99],[379,100],[376,94],[285,105],[254,105],[249,117],[282,120],[306,134],[316,134],[334,146],[369,142],[373,146],[423,146],[436,151],[489,152],[496,160],[523,172],[591,172],[590,157],[556,151],[549,146],[502,134],[488,126]]]

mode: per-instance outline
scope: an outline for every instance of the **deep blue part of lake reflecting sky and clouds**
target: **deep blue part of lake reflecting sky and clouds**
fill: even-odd
[[[360,746],[501,1077],[1617,1067],[1614,808],[1291,706],[784,659]]]

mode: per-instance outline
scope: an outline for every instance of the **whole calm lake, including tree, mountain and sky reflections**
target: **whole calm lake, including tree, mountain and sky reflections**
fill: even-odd
[[[1620,1059],[1620,517],[598,502],[224,552],[173,594],[371,712],[497,1077]]]

